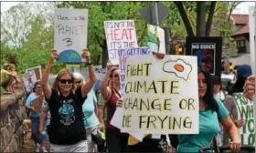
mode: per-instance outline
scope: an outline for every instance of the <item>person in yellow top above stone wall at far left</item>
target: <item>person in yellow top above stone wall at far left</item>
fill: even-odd
[[[13,82],[13,79],[16,79],[16,75],[12,74],[8,71],[9,64],[4,64],[3,68],[1,69],[1,79],[0,79],[0,86],[5,89],[5,91],[8,91],[8,87],[10,83]]]

